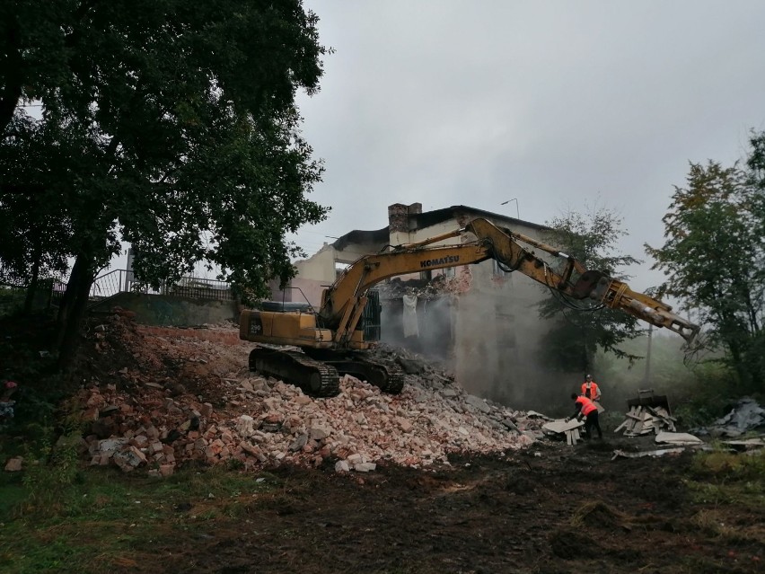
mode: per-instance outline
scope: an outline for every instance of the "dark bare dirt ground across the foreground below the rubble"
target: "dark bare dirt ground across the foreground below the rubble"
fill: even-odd
[[[761,571],[762,508],[691,502],[687,456],[610,458],[611,445],[539,445],[438,472],[286,467],[290,488],[193,534],[180,555],[157,549],[171,564],[145,571]]]

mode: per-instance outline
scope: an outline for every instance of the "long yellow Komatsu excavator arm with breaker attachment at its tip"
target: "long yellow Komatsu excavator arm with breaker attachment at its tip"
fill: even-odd
[[[461,245],[432,246],[432,243],[450,237],[464,236],[465,232],[470,232],[476,239]],[[557,273],[547,261],[521,243],[565,260],[563,271]],[[470,265],[488,259],[497,260],[507,270],[520,271],[563,296],[590,299],[596,305],[620,309],[657,327],[674,331],[688,342],[699,332],[697,325],[672,313],[669,305],[633,291],[626,283],[602,271],[585,269],[579,261],[555,247],[497,227],[482,218],[474,219],[463,230],[399,246],[391,252],[362,257],[325,291],[319,313],[321,320],[333,331],[335,343],[342,346],[356,329],[366,304],[365,293],[374,284],[397,275]]]

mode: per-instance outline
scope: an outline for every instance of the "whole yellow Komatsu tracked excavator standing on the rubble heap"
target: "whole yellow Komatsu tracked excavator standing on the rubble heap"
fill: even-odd
[[[453,237],[462,237],[463,242],[434,245]],[[522,243],[559,258],[562,271],[553,270],[548,261]],[[674,331],[689,343],[699,332],[697,325],[672,313],[669,305],[632,291],[619,279],[585,269],[582,263],[551,245],[477,218],[462,229],[361,257],[323,291],[318,312],[307,303],[288,302],[263,302],[259,310],[242,311],[240,339],[266,345],[251,351],[250,368],[295,384],[317,397],[338,394],[342,375],[354,375],[386,393],[400,393],[403,387],[400,366],[365,352],[375,345],[375,341],[364,339],[364,330],[360,328],[368,290],[386,278],[489,259],[496,260],[500,269],[523,273],[567,301],[589,300],[589,309],[599,306],[620,309],[656,327]]]

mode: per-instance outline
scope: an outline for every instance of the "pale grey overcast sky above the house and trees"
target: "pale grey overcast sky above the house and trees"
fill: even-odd
[[[297,243],[387,225],[391,203],[545,223],[598,203],[646,259],[688,163],[765,129],[765,2],[305,0],[321,92],[301,96],[332,208]],[[517,199],[505,206],[508,199]],[[661,281],[649,265],[630,287]]]

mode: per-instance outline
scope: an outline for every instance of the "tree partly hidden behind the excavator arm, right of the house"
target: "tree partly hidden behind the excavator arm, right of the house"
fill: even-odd
[[[615,243],[627,233],[621,229],[621,218],[607,208],[588,208],[585,214],[569,210],[546,225],[550,227],[547,243],[557,245],[587,269],[598,269],[611,277],[623,278],[618,275],[621,267],[640,262],[616,252]],[[576,281],[576,277],[572,280]],[[598,349],[611,351],[630,361],[638,358],[619,348],[621,342],[632,339],[639,332],[637,319],[628,313],[583,304],[551,291],[550,298],[541,304],[540,314],[548,319],[563,316],[558,327],[550,330],[543,341],[541,352],[549,365],[585,373],[592,370]]]

